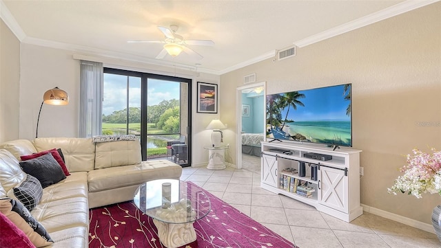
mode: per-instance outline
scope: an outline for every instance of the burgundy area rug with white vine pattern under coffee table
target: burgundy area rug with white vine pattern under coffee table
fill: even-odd
[[[194,183],[192,185],[198,187]],[[184,248],[298,248],[213,194],[200,189],[209,197],[212,210],[194,223],[197,240]],[[164,247],[152,218],[143,214],[132,201],[97,207],[89,214],[89,248]]]

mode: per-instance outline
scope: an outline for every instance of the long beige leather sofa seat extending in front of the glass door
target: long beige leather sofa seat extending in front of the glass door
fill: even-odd
[[[154,179],[179,178],[182,168],[166,159],[142,161],[132,166],[92,170],[88,174],[89,192],[137,185]]]

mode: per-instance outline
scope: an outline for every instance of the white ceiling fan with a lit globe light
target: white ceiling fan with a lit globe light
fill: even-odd
[[[203,58],[201,54],[194,52],[193,49],[187,47],[187,45],[207,45],[213,46],[214,42],[210,40],[184,40],[183,36],[176,34],[178,31],[178,25],[170,25],[170,28],[158,26],[158,29],[163,32],[165,39],[164,41],[127,41],[127,43],[163,43],[163,50],[156,56],[156,58],[164,58],[165,55],[170,54],[170,56],[178,56],[182,51],[194,56],[197,59]]]

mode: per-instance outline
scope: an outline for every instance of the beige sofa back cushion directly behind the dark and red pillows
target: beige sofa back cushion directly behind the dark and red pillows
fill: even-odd
[[[38,151],[61,148],[69,172],[90,171],[95,164],[95,144],[92,138],[49,137],[34,139]]]

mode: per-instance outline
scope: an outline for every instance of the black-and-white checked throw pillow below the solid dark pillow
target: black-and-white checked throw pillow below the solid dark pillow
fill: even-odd
[[[14,190],[15,197],[17,197],[29,211],[34,209],[40,202],[41,196],[43,196],[43,188],[41,187],[39,179],[32,177],[30,174],[28,174],[25,181],[23,181],[19,187],[12,189]]]

